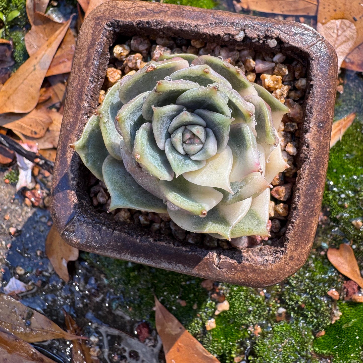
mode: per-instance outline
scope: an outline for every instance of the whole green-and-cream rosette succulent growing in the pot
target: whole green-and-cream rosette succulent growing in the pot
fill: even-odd
[[[75,149],[109,210],[166,213],[217,238],[268,236],[270,183],[288,165],[287,107],[213,56],[162,54],[112,86]]]

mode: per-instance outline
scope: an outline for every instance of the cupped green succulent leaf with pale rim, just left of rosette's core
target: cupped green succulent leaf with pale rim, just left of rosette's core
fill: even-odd
[[[143,170],[158,179],[172,180],[172,170],[165,152],[158,148],[151,123],[144,123],[135,137],[134,151],[132,152],[136,161]]]

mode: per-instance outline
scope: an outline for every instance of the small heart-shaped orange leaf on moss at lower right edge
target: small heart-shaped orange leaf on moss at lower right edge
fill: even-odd
[[[343,275],[355,281],[363,289],[363,278],[351,246],[342,243],[339,249],[329,248],[327,256],[331,264]]]

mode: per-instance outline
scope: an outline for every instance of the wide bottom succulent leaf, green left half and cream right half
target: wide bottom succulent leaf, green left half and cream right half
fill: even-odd
[[[248,213],[251,199],[243,200],[239,203],[229,205],[218,204],[212,208],[207,216],[201,218],[193,216],[183,211],[172,211],[168,208],[170,218],[181,228],[197,233],[218,233],[223,238],[231,240],[231,230],[234,225],[243,219]]]

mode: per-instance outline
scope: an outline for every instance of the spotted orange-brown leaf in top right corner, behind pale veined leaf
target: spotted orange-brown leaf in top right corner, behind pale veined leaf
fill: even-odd
[[[353,49],[363,42],[362,10],[363,6],[361,0],[319,0],[317,23],[324,25],[327,24],[330,20],[349,20],[354,24],[357,30],[357,37],[351,48]]]

